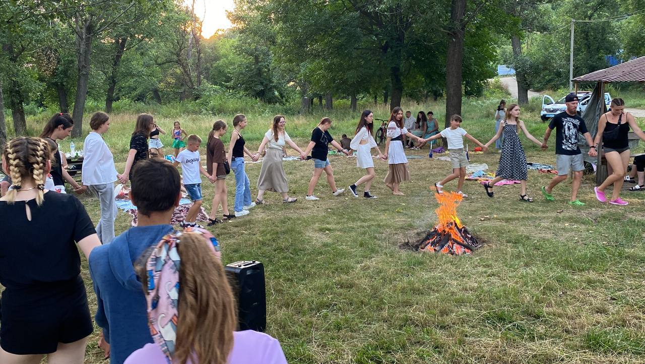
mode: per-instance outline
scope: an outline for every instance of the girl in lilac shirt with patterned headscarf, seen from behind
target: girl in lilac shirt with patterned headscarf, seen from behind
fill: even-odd
[[[286,364],[277,339],[233,331],[233,293],[212,241],[199,229],[169,234],[141,258],[137,274],[154,343],[130,354],[125,364]]]

